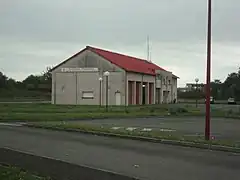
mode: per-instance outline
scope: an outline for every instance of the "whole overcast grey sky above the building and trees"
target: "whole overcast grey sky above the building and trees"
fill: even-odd
[[[240,66],[240,1],[213,0],[212,79]],[[205,82],[207,0],[0,0],[0,71],[22,80],[86,45]]]

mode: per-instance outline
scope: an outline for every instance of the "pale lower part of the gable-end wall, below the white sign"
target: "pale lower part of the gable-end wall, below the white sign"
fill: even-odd
[[[100,94],[98,72],[56,73],[55,75],[56,104],[100,105],[100,98],[102,98],[101,104],[106,104],[106,77],[103,77]],[[115,93],[120,92],[121,104],[125,105],[124,73],[110,72],[108,82],[108,104],[116,105]],[[93,92],[94,98],[84,99],[82,94],[86,91]],[[52,101],[54,103],[54,97]]]

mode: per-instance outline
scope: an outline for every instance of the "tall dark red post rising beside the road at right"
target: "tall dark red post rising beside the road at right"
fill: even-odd
[[[212,0],[208,0],[207,31],[207,78],[206,78],[206,118],[205,139],[210,139],[210,80],[211,80],[211,43],[212,43]]]

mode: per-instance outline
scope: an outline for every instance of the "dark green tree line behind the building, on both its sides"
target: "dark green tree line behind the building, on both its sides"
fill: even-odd
[[[29,75],[23,81],[16,81],[0,72],[0,98],[41,97],[50,100],[51,88],[50,67],[40,75]],[[218,79],[211,82],[211,96],[217,100],[234,97],[240,101],[240,68],[238,72],[230,73],[224,82]],[[204,97],[204,91],[195,89],[189,92],[178,92],[178,98],[183,99],[202,99]]]

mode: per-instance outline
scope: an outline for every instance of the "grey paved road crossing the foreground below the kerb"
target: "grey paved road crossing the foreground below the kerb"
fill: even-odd
[[[0,146],[149,180],[239,180],[240,154],[0,126]]]

